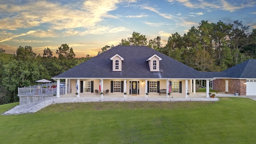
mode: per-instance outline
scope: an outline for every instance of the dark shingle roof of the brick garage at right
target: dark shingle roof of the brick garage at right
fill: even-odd
[[[219,78],[256,78],[256,60],[246,60],[220,72]]]

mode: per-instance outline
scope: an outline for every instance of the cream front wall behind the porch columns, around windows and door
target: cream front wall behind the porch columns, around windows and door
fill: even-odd
[[[94,92],[85,92],[85,93],[80,93],[80,96],[92,96],[95,95],[95,90],[99,90],[99,85],[100,85],[100,79],[80,79],[80,81],[87,81],[87,80],[92,80],[94,81]],[[111,93],[111,81],[112,80],[120,80],[120,81],[124,81],[124,79],[103,79],[103,90],[109,90],[109,95],[110,96],[122,96],[124,95],[123,92],[113,92]],[[139,81],[140,82],[140,94],[144,96],[146,94],[146,82],[143,79],[126,79],[126,92],[127,95],[129,95],[129,82],[130,81]],[[148,79],[148,81],[160,81],[160,90],[161,89],[166,89],[166,80],[158,80],[158,79]],[[186,95],[186,88],[185,88],[185,80],[172,80],[170,79],[170,81],[182,81],[182,93],[172,93],[171,96],[184,96]],[[191,88],[190,88],[190,82],[188,80],[188,92],[190,92]],[[125,90],[125,88],[124,88]],[[78,90],[80,92],[80,89]],[[71,79],[70,80],[70,93],[74,94],[76,92],[76,80]],[[159,93],[149,93],[148,96],[159,96]],[[161,94],[161,96],[164,96],[164,94]]]

